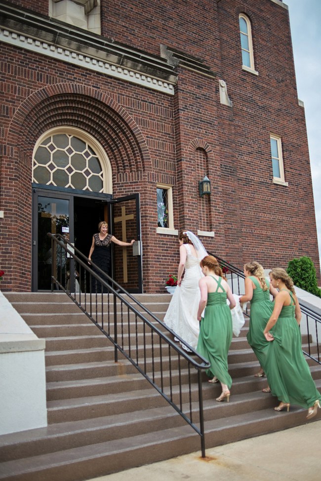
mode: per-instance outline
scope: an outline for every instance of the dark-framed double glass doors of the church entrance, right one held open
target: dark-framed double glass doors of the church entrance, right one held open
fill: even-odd
[[[57,268],[58,278],[65,279],[65,274],[68,277],[69,273],[73,275],[74,261],[66,256],[64,249],[52,259],[48,232],[62,234],[88,255],[98,223],[105,220],[109,232],[120,241],[138,241],[133,247],[112,243],[111,277],[129,292],[143,292],[139,194],[119,199],[106,199],[107,196],[110,195],[80,196],[79,192],[60,194],[51,189],[34,188],[33,291],[51,289],[52,263],[54,272]]]

